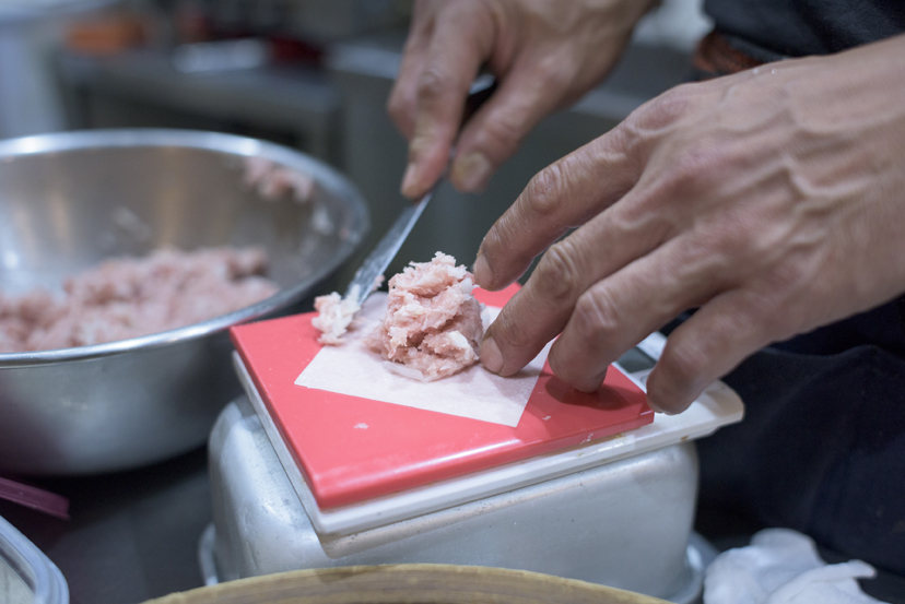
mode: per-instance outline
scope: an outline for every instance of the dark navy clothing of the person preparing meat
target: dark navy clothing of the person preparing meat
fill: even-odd
[[[836,52],[905,32],[905,0],[706,0],[705,10],[716,32],[702,44],[709,60],[698,50],[703,66],[744,63],[738,52],[757,62]],[[905,576],[903,309],[890,303],[774,344],[727,376],[745,418],[698,442],[702,505]]]

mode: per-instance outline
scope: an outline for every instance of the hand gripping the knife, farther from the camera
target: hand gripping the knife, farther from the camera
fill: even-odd
[[[491,175],[546,114],[577,100],[613,67],[651,0],[420,0],[388,110],[409,140],[402,193],[443,175],[461,191]],[[458,137],[471,82],[499,82]]]

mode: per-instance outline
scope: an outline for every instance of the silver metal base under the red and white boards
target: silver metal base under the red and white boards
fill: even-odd
[[[209,582],[427,562],[530,570],[680,603],[701,591],[690,441],[341,536],[315,531],[245,396],[214,425],[210,471],[213,525],[200,547]]]

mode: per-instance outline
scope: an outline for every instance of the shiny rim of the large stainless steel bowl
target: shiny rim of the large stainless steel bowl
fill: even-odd
[[[225,331],[233,325],[265,317],[270,312],[298,301],[308,294],[315,285],[333,272],[352,254],[369,228],[368,212],[364,198],[355,186],[338,170],[318,159],[305,155],[301,151],[277,143],[235,134],[156,128],[82,130],[37,134],[0,141],[0,162],[9,162],[19,156],[33,154],[117,146],[132,149],[141,146],[200,149],[245,157],[265,157],[287,167],[307,171],[317,180],[319,186],[349,202],[351,220],[349,221],[350,224],[344,226],[350,235],[341,241],[340,249],[332,260],[325,263],[307,279],[281,289],[273,296],[258,304],[207,321],[139,337],[130,337],[128,340],[51,351],[0,353],[0,369],[89,360],[133,351],[148,351],[198,340],[213,333]]]

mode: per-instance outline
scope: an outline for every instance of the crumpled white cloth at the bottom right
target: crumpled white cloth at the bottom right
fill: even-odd
[[[861,560],[827,565],[806,535],[767,529],[748,547],[717,556],[704,578],[704,604],[872,604],[880,601],[855,579],[875,575]]]

